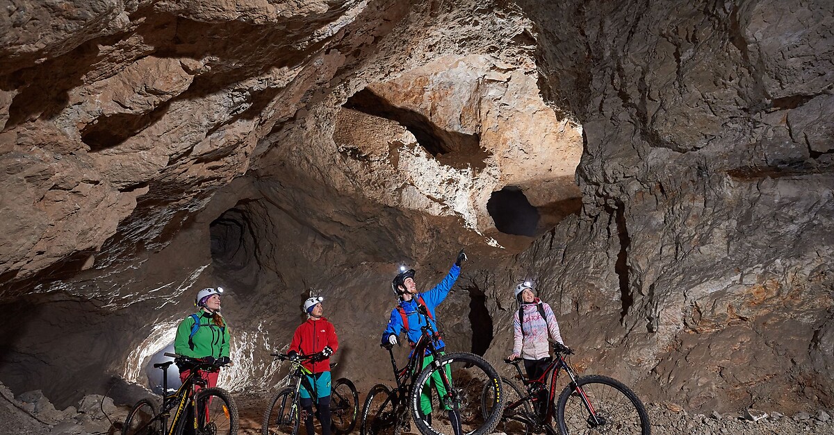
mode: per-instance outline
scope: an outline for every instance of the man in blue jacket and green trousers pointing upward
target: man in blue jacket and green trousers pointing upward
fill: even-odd
[[[458,253],[458,258],[455,260],[455,264],[453,264],[452,268],[449,269],[449,273],[446,274],[443,281],[425,293],[417,292],[417,284],[414,283],[414,269],[401,272],[394,277],[394,281],[391,283],[391,289],[394,291],[394,296],[399,298],[399,303],[397,304],[397,308],[391,310],[388,326],[385,327],[385,331],[382,333],[383,344],[390,343],[393,345],[399,343],[399,338],[397,337],[399,336],[399,333],[404,332],[405,337],[408,338],[409,345],[411,348],[414,348],[422,335],[420,328],[423,327],[427,321],[431,324],[431,327],[437,331],[437,323],[435,322],[437,317],[435,316],[435,310],[437,309],[437,306],[444,301],[446,296],[449,295],[452,286],[455,285],[455,281],[457,281],[460,276],[460,263],[464,262],[466,259],[466,254],[464,253],[464,250],[461,249],[460,253]],[[429,314],[428,319],[426,319],[426,316],[421,316],[420,313],[418,313],[417,309],[420,305],[425,305],[426,311]],[[446,345],[442,338],[435,338],[435,348],[441,355],[445,350],[445,346]],[[430,353],[426,353],[423,356],[423,363],[420,365],[420,369],[425,368],[432,361],[434,361],[432,355]],[[434,383],[434,386],[437,390],[436,393],[440,397],[445,396],[445,388],[443,388],[442,385]],[[445,410],[449,411],[449,420],[452,423],[455,435],[460,435],[460,417],[448,406],[443,406]],[[420,408],[423,411],[423,414],[430,420],[431,397],[429,388],[426,388],[424,393],[420,396]]]

